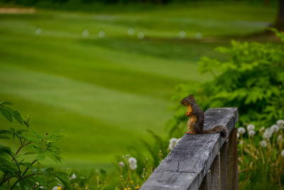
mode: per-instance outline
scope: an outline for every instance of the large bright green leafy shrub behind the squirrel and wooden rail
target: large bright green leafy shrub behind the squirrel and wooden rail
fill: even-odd
[[[275,29],[273,29],[275,31]],[[175,100],[195,95],[203,110],[209,107],[238,107],[239,120],[271,125],[284,117],[284,33],[275,31],[280,43],[231,41],[219,47],[226,60],[202,57],[200,73],[212,73],[214,80],[178,86]],[[185,108],[178,107],[170,126],[180,131]]]

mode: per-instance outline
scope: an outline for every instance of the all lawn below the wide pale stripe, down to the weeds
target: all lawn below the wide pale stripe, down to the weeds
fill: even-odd
[[[89,172],[92,168],[111,169],[114,155],[126,152],[127,147],[135,146],[144,151],[140,139],[147,139],[148,135],[136,130],[124,130],[119,127],[105,125],[93,117],[80,115],[72,110],[62,109],[56,105],[46,105],[42,102],[26,100],[18,95],[0,93],[0,100],[14,102],[13,108],[31,117],[31,129],[39,134],[61,130],[63,136],[58,142],[62,148],[62,163],[56,164],[47,159],[45,164],[54,165],[56,169],[75,167],[82,172]],[[28,105],[28,106],[27,106]],[[19,108],[21,107],[21,108]],[[0,117],[1,126],[11,127],[11,123]],[[13,126],[20,129],[20,126]],[[110,140],[111,139],[111,140]],[[1,140],[1,144],[6,141]],[[17,141],[11,147],[18,149]],[[24,149],[24,152],[28,149]]]

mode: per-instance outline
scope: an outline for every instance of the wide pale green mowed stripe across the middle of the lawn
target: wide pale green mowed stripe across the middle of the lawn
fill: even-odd
[[[107,125],[145,132],[146,128],[162,129],[170,118],[170,103],[158,98],[121,93],[8,65],[0,68],[1,93],[73,110]]]

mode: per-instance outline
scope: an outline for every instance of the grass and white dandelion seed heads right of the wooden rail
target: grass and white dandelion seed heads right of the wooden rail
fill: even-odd
[[[239,128],[239,186],[241,189],[281,189],[284,184],[284,120],[255,131]],[[246,133],[245,133],[246,132]]]

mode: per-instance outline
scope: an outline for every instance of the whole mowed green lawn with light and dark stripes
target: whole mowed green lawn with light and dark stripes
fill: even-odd
[[[0,100],[39,132],[62,130],[63,167],[110,168],[127,147],[143,151],[147,129],[166,134],[175,85],[211,79],[198,73],[199,58],[220,56],[215,47],[262,31],[276,15],[275,6],[239,2],[135,10],[0,14]]]

